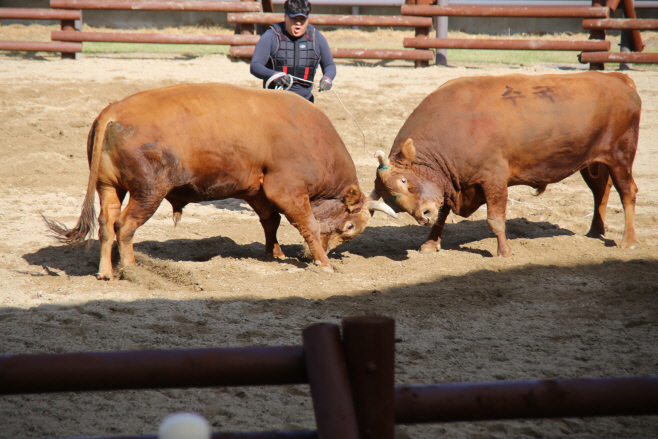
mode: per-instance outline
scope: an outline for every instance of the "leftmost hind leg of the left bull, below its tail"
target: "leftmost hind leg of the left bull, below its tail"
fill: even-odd
[[[101,246],[101,260],[96,277],[101,280],[112,280],[112,245],[114,244],[114,223],[121,214],[121,203],[125,191],[107,185],[99,185],[98,198],[101,211],[98,215],[98,241]]]

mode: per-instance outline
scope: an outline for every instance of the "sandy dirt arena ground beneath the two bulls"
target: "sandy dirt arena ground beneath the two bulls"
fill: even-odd
[[[389,151],[414,107],[449,79],[576,66],[413,69],[338,66],[334,93],[316,103],[373,188],[375,150]],[[516,252],[494,257],[486,210],[451,216],[444,249],[420,255],[428,228],[377,213],[330,254],[334,274],[264,256],[263,231],[239,200],[189,205],[173,227],[165,201],[135,235],[139,267],[102,282],[98,244],[66,248],[41,214],[73,226],[87,185],[86,137],[110,102],[150,88],[221,81],[260,87],[225,56],[0,54],[0,353],[298,345],[301,331],[346,316],[396,319],[398,384],[658,374],[658,71],[631,71],[643,100],[635,179],[639,246],[620,249],[623,211],[613,190],[607,238],[583,235],[592,197],[579,175],[534,197],[510,191]],[[287,255],[302,238],[285,220]],[[215,431],[314,429],[307,386],[0,397],[0,438],[153,434],[175,411]],[[658,437],[658,417],[399,426],[398,438]]]

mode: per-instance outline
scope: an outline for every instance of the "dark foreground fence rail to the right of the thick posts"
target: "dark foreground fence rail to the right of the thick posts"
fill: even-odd
[[[658,376],[404,386],[398,424],[658,413]]]

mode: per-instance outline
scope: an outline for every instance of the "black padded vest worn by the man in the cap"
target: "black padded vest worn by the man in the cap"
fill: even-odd
[[[277,36],[277,49],[270,55],[266,67],[277,72],[288,73],[298,78],[313,81],[315,70],[320,63],[320,54],[315,48],[315,28],[308,25],[306,33],[293,40],[285,31],[286,24],[275,23],[270,28]],[[299,84],[311,88],[311,84]]]

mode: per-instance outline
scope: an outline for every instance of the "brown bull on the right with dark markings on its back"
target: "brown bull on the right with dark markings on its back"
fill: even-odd
[[[537,193],[580,171],[594,194],[587,236],[605,234],[614,184],[625,213],[622,247],[635,247],[632,166],[641,101],[621,73],[506,75],[461,78],[427,96],[404,123],[380,166],[373,197],[432,225],[421,252],[438,251],[452,210],[468,217],[487,204],[498,256],[511,256],[505,237],[507,188]]]

